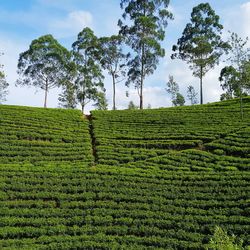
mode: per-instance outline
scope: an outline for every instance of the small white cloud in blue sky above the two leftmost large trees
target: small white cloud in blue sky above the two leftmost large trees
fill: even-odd
[[[54,20],[49,24],[49,30],[57,38],[71,37],[78,34],[84,27],[92,27],[91,13],[83,10],[68,13],[65,18]]]

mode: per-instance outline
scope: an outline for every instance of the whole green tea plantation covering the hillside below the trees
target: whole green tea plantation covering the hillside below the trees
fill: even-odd
[[[250,98],[135,111],[0,106],[0,249],[250,245]],[[92,145],[91,145],[92,144]]]

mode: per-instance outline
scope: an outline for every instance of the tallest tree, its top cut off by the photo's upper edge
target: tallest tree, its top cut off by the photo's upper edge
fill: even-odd
[[[146,76],[152,74],[159,58],[165,55],[160,42],[164,40],[165,28],[172,14],[167,10],[169,0],[121,0],[123,19],[129,17],[128,24],[119,20],[120,34],[134,51],[128,61],[128,80],[138,90],[140,109],[143,109],[143,87]]]

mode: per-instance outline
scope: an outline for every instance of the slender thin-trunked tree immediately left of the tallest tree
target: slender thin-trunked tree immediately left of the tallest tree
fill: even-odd
[[[123,81],[126,75],[126,63],[129,55],[122,52],[122,36],[100,38],[101,65],[112,77],[113,110],[116,109],[116,84]]]

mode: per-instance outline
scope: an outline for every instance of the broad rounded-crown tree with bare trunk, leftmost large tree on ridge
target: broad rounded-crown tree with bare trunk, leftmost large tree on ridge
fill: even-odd
[[[19,56],[17,85],[33,85],[44,90],[46,108],[49,90],[62,85],[69,57],[70,52],[52,35],[33,40],[29,49]]]

